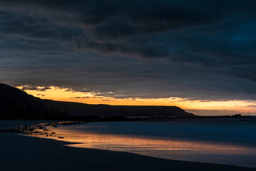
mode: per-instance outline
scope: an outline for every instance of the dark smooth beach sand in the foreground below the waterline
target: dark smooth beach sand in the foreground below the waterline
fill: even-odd
[[[127,152],[63,146],[66,142],[0,133],[0,170],[256,170],[246,167],[164,160]]]

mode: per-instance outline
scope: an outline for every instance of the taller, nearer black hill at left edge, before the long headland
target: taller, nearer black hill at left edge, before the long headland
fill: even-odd
[[[68,116],[62,110],[45,108],[40,98],[0,83],[0,118],[46,118]]]

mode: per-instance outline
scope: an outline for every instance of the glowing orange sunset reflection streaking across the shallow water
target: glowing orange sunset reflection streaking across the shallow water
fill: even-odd
[[[220,143],[217,144],[210,142],[196,142],[190,140],[162,140],[157,138],[143,138],[131,135],[90,133],[90,131],[87,131],[86,133],[80,133],[77,130],[68,130],[66,128],[51,128],[49,133],[51,132],[56,134],[53,134],[48,138],[76,143],[68,145],[70,147],[86,147],[102,150],[138,152],[140,154],[144,154],[145,152],[143,151],[147,150],[170,150],[169,153],[174,151],[193,151],[203,154],[211,153],[218,155],[242,155],[248,154],[252,151],[255,152],[255,149],[252,150],[250,147],[223,145]],[[41,137],[45,137],[45,135],[41,135]],[[63,139],[59,137],[63,137]]]

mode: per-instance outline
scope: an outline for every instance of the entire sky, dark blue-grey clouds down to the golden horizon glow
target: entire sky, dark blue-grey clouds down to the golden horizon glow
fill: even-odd
[[[256,113],[256,1],[1,0],[0,82],[39,98]]]

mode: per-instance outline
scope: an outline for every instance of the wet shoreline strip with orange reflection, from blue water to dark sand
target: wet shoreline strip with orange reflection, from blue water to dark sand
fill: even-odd
[[[134,152],[140,155],[173,160],[256,167],[255,147],[216,142],[174,140],[170,138],[149,138],[140,135],[95,133],[89,127],[86,130],[80,130],[78,129],[79,126],[73,126],[76,129],[68,126],[60,126],[58,128],[50,126],[48,127],[48,133],[51,133],[51,136],[46,137],[43,134],[32,134],[32,136],[76,142],[75,144],[67,145],[70,147]]]

